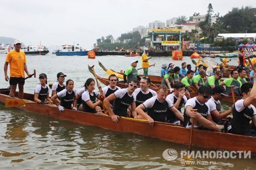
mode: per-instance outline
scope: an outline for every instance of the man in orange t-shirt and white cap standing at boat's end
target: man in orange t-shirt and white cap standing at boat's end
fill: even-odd
[[[4,64],[4,75],[5,81],[9,81],[11,85],[11,91],[9,96],[15,97],[15,91],[17,88],[17,84],[19,86],[19,98],[23,99],[23,86],[25,84],[25,74],[27,73],[29,77],[31,75],[28,72],[26,65],[26,55],[23,51],[20,51],[21,42],[19,40],[14,41],[15,50],[8,52],[5,64]],[[10,79],[7,75],[8,64],[10,63]]]

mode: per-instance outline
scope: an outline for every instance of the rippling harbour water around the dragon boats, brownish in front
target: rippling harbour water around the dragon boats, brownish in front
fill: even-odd
[[[106,68],[120,71],[129,67],[130,61],[138,57],[97,56],[27,56],[28,69],[37,75],[44,72],[48,82],[56,81],[60,71],[73,79],[79,89],[92,74],[87,64],[95,65],[100,76],[107,76],[98,66],[98,60]],[[5,55],[0,55],[4,64]],[[219,58],[214,59],[219,62]],[[234,59],[233,59],[234,60]],[[191,63],[188,57],[184,61]],[[149,74],[159,75],[163,63],[173,62],[170,57],[153,57],[155,67]],[[174,63],[180,66],[182,61]],[[233,64],[236,61],[232,61]],[[192,65],[193,66],[193,65]],[[194,66],[193,66],[194,67]],[[140,70],[140,73],[143,71]],[[8,87],[0,72],[0,88]],[[37,76],[38,77],[38,76]],[[38,78],[26,80],[25,92],[33,93]],[[230,105],[223,104],[227,110]],[[123,133],[93,126],[84,126],[68,121],[56,120],[36,113],[17,109],[6,109],[0,105],[0,169],[256,169],[256,159],[197,159],[196,165],[183,165],[184,159],[167,161],[162,153],[168,148],[177,152],[188,146],[145,137],[133,133]],[[206,150],[193,147],[194,150]],[[208,161],[208,165],[204,165]],[[210,162],[212,161],[212,162]]]

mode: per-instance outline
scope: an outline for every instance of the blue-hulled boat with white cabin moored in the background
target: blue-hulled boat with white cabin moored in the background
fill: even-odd
[[[87,55],[87,50],[83,50],[79,44],[62,45],[61,49],[56,51],[56,55]]]

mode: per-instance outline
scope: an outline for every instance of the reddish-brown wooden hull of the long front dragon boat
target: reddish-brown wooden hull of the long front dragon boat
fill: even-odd
[[[0,92],[1,93],[1,92]],[[25,94],[26,97],[33,97],[32,94]],[[0,102],[5,103],[6,98],[11,98],[5,94],[0,94]],[[166,125],[156,123],[150,127],[147,122],[120,119],[117,124],[112,122],[110,117],[100,116],[86,112],[73,111],[66,109],[60,112],[57,107],[43,106],[41,104],[26,104],[25,107],[17,107],[18,109],[34,112],[47,117],[80,123],[83,125],[92,125],[106,129],[112,129],[122,132],[138,133],[145,136],[156,137],[166,141],[175,143],[189,144],[189,128],[181,126]],[[213,132],[206,130],[194,129],[193,146],[204,148],[222,149],[222,150],[244,150],[256,153],[256,137],[235,135],[230,133]]]

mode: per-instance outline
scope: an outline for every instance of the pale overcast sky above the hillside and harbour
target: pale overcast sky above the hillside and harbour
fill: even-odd
[[[96,39],[132,31],[139,25],[194,12],[206,14],[208,4],[221,16],[233,7],[256,7],[255,0],[5,0],[1,1],[0,37],[26,45],[79,43],[91,49]]]

